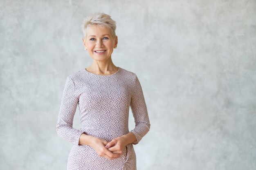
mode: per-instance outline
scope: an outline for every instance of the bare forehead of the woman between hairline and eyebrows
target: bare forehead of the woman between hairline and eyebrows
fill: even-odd
[[[101,36],[104,34],[111,35],[110,28],[108,28],[107,26],[100,26],[100,25],[88,26],[87,37],[92,36],[92,35]]]

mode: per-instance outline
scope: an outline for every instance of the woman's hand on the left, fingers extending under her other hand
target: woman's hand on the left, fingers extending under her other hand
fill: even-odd
[[[100,157],[105,157],[108,160],[112,160],[118,158],[121,155],[119,153],[113,153],[107,148],[105,148],[106,144],[108,144],[108,141],[101,139],[99,137],[92,136],[90,146],[94,148],[94,150],[98,153]]]

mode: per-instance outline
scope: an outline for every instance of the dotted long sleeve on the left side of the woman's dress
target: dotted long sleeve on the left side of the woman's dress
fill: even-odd
[[[84,131],[73,128],[73,119],[79,102],[79,97],[76,96],[75,92],[75,84],[73,80],[70,77],[67,77],[61,100],[56,132],[58,136],[66,141],[79,145],[79,138]]]

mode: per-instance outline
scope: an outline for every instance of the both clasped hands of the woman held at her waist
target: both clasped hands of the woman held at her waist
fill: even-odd
[[[110,142],[99,137],[95,137],[91,146],[100,157],[112,160],[123,154],[123,150],[126,145],[124,137],[117,137]]]

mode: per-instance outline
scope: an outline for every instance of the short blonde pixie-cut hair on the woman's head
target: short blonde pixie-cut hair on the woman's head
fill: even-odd
[[[99,25],[99,26],[106,26],[110,28],[112,37],[116,37],[116,22],[111,19],[111,16],[106,13],[94,13],[92,15],[89,15],[87,18],[84,18],[83,24],[81,25],[81,28],[83,30],[83,36],[86,38],[88,26],[92,25]]]

